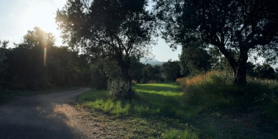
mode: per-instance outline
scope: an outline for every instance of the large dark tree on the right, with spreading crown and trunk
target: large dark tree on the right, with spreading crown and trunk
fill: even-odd
[[[202,40],[217,47],[246,85],[246,62],[253,54],[275,61],[278,53],[278,1],[154,0],[168,43],[186,46]]]

